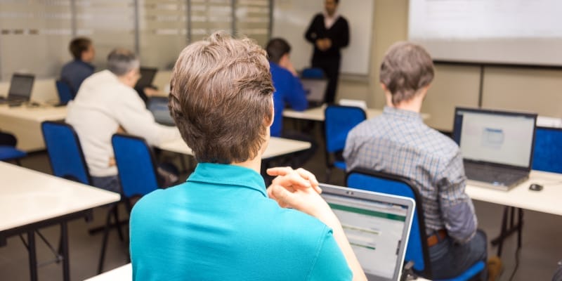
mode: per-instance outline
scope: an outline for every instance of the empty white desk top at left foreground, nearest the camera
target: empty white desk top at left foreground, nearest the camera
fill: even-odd
[[[0,231],[117,202],[115,192],[0,162]]]

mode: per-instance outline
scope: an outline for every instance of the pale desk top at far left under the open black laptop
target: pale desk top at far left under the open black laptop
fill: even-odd
[[[9,107],[8,105],[0,105],[0,115],[27,119],[35,122],[44,122],[46,120],[63,120],[66,118],[66,107],[39,106],[30,107],[28,105],[20,105]]]

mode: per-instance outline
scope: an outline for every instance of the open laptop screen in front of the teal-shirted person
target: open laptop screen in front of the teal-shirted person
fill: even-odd
[[[367,279],[400,280],[414,200],[322,183],[320,188],[322,197],[339,218]]]

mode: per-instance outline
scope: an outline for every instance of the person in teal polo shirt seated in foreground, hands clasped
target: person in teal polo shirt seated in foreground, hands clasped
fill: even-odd
[[[266,190],[273,91],[249,39],[216,32],[181,52],[169,106],[199,164],[133,207],[133,280],[366,280],[313,174],[268,169]]]

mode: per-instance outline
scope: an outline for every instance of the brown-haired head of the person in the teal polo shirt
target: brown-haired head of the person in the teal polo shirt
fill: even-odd
[[[230,164],[258,156],[271,122],[273,83],[266,51],[215,32],[181,51],[169,107],[197,162]]]

